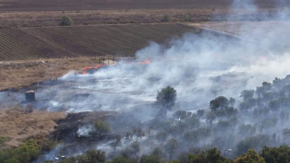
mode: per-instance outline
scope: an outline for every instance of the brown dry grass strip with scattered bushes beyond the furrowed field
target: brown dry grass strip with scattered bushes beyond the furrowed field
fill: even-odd
[[[260,11],[277,11],[279,8],[261,8]],[[184,16],[190,15],[191,22],[223,21],[231,13],[238,18],[259,17],[260,13],[251,9],[228,8],[191,8],[191,9],[134,9],[134,10],[97,10],[97,11],[34,11],[0,13],[1,28],[58,26],[63,15],[73,19],[73,25],[88,24],[127,24],[158,23],[164,14],[172,16],[171,22],[184,22]]]

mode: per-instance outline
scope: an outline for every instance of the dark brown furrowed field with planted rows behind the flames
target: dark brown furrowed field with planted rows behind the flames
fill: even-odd
[[[0,61],[99,55],[134,56],[201,29],[184,24],[126,24],[0,30]]]

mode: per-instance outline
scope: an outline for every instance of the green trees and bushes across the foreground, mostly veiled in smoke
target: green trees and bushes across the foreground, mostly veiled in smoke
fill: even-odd
[[[290,75],[275,78],[237,98],[218,96],[208,108],[192,113],[176,109],[177,92],[165,87],[157,92],[156,117],[116,135],[109,143],[113,152],[107,162],[289,162],[289,88]],[[102,139],[101,134],[110,130],[108,122],[96,121],[92,132]],[[39,146],[24,143],[12,151],[2,150],[0,161],[28,162],[39,154]],[[59,162],[105,162],[105,152],[89,150]]]

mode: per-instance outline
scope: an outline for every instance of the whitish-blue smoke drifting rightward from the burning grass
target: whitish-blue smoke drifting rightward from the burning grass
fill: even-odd
[[[262,17],[262,20],[288,20],[289,18],[287,8],[277,13],[267,13],[260,11],[250,0],[247,0],[247,3],[244,2],[235,1],[233,8],[238,8],[239,11],[240,8],[255,10],[260,13],[259,18]],[[271,15],[271,18],[267,17],[268,15]],[[229,15],[229,20],[232,20],[231,15]],[[68,73],[62,76],[56,84],[37,88],[38,97],[48,98],[49,101],[35,104],[35,108],[47,107],[49,111],[66,110],[67,112],[113,110],[129,113],[134,111],[132,115],[135,118],[132,119],[146,122],[154,118],[155,110],[157,110],[154,105],[157,90],[172,86],[177,90],[175,109],[192,113],[196,113],[198,109],[206,109],[208,112],[209,102],[217,96],[235,98],[237,102],[234,107],[239,109],[239,103],[243,102],[243,98],[239,96],[243,90],[255,90],[256,86],[261,86],[262,82],[271,82],[275,77],[283,78],[290,72],[288,66],[290,35],[284,32],[289,28],[288,24],[280,23],[275,25],[275,28],[265,29],[255,26],[255,23],[260,24],[260,22],[244,22],[239,29],[236,29],[243,31],[237,34],[241,35],[242,39],[224,34],[213,35],[205,30],[200,35],[185,34],[181,39],[172,41],[169,47],[151,43],[150,46],[136,53],[138,60],[131,64],[120,62],[117,66],[100,69],[93,74]],[[263,23],[275,24],[274,21]],[[237,26],[229,25],[228,28],[233,31],[235,30],[233,28]],[[145,60],[150,60],[150,63],[137,64]],[[256,96],[254,97],[257,98]],[[20,98],[19,96],[19,101]],[[138,113],[139,110],[142,110],[140,111],[142,114]],[[214,135],[196,142],[195,147],[217,146],[219,150],[235,149],[241,140],[247,141],[248,137],[255,137],[259,133],[268,135],[269,139],[274,133],[277,134],[276,144],[267,143],[269,139],[265,138],[265,135],[256,136],[265,140],[261,146],[282,144],[282,129],[290,126],[284,123],[282,127],[282,123],[278,121],[274,126],[266,126],[264,130],[258,131],[260,124],[279,115],[272,113],[263,118],[254,118],[253,110],[254,108],[249,112],[239,111],[237,116],[239,125],[226,129],[225,132],[217,130]],[[168,116],[170,117],[171,114]],[[216,119],[214,125],[217,126],[217,122]],[[241,135],[239,131],[243,128],[243,124],[251,124],[257,131]],[[142,125],[145,129],[146,124]],[[120,126],[120,128],[126,127]],[[129,126],[129,129],[133,127],[135,126]],[[203,118],[201,127],[208,127]],[[89,128],[81,127],[78,133],[88,135]],[[181,134],[177,138],[181,143],[186,144]],[[154,140],[152,148],[146,149],[145,146],[148,148],[148,145],[142,144],[151,140],[146,136],[140,141],[141,147],[144,147],[141,150],[142,153],[148,153],[153,147],[159,145]],[[188,148],[192,146],[186,147],[180,151],[188,151]],[[107,142],[99,145],[98,149],[105,150],[107,153],[111,152]],[[260,146],[257,150],[260,150]],[[237,154],[240,153],[230,155]]]

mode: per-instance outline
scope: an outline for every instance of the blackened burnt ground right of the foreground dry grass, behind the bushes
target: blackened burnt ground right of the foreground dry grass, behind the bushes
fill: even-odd
[[[94,145],[99,141],[113,139],[116,135],[125,136],[126,132],[132,131],[137,126],[146,125],[148,120],[150,121],[156,115],[154,104],[145,104],[140,107],[122,112],[95,111],[68,113],[65,119],[57,122],[59,132],[56,127],[56,131],[50,135],[50,139],[56,140],[57,137],[57,141],[64,142],[67,145]],[[145,120],[144,118],[139,118],[141,116],[144,116]],[[81,127],[92,126],[96,120],[108,122],[111,131],[103,133],[101,139],[99,139],[98,133],[91,132],[88,135],[80,135],[78,133]]]

